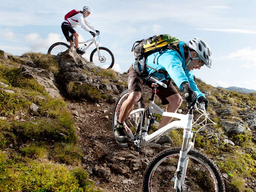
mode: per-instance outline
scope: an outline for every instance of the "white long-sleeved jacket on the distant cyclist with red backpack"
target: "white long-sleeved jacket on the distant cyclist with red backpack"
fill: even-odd
[[[76,15],[65,20],[65,22],[67,21],[72,28],[75,28],[81,25],[85,31],[91,31],[91,30],[96,31],[96,28],[92,25],[90,21],[87,20],[86,17],[84,17],[83,13],[77,13]]]

